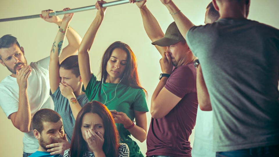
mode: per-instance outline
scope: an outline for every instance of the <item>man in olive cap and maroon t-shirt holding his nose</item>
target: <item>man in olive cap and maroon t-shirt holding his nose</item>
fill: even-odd
[[[173,22],[162,32],[157,20],[137,2],[144,28],[162,55],[162,74],[151,98],[151,123],[146,138],[147,156],[191,156],[188,141],[198,107],[195,57]]]

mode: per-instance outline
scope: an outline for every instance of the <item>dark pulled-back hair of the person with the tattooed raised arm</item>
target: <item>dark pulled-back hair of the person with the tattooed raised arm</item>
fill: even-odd
[[[78,55],[73,55],[67,57],[65,60],[62,61],[59,68],[62,67],[66,70],[71,70],[76,77],[80,76],[81,73],[79,72],[78,66]]]

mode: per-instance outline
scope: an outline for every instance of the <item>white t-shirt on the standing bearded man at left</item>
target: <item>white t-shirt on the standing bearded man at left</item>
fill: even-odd
[[[31,62],[31,74],[28,78],[28,100],[31,109],[31,118],[41,108],[53,109],[53,101],[49,95],[49,57]],[[17,112],[19,103],[19,87],[17,78],[7,76],[0,83],[0,106],[10,119],[12,113]],[[38,140],[33,135],[32,126],[28,133],[24,133],[23,151],[34,153],[39,148]]]

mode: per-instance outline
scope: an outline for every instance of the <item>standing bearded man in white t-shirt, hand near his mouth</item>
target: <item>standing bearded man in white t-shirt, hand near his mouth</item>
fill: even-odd
[[[42,11],[41,18],[59,26],[62,20],[58,16],[49,17],[51,12],[53,10]],[[81,37],[71,27],[68,28],[66,37],[69,44],[63,49],[60,61],[77,53],[81,42]],[[24,133],[23,157],[27,157],[39,147],[31,128],[31,118],[41,108],[53,109],[54,106],[49,95],[50,58],[28,65],[24,54],[17,38],[11,35],[0,38],[0,63],[12,73],[0,83],[0,106],[12,124]]]

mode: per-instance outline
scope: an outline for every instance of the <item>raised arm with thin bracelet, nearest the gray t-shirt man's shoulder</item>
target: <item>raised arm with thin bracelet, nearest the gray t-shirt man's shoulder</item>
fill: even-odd
[[[161,0],[167,7],[169,13],[174,18],[174,21],[184,38],[186,38],[187,31],[194,26],[194,24],[178,9],[172,0]]]

